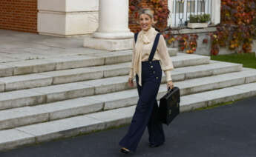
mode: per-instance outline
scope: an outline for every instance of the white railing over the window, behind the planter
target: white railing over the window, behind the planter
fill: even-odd
[[[171,27],[186,27],[189,16],[212,15],[212,1],[214,0],[171,0]]]

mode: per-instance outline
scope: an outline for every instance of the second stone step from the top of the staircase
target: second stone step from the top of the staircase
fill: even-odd
[[[174,67],[209,63],[209,58],[206,57],[192,56],[192,59],[188,58],[183,56],[172,57]],[[195,61],[197,61],[196,64]],[[125,62],[121,64],[82,67],[70,70],[53,70],[50,72],[33,73],[22,76],[2,77],[0,78],[0,92],[128,75],[130,64],[131,62]]]

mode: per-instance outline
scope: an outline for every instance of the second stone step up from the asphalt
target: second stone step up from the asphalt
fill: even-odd
[[[254,73],[254,75],[249,75],[249,73]],[[206,90],[232,87],[237,84],[248,84],[255,81],[256,70],[244,70],[239,73],[179,81],[175,82],[175,85],[180,87],[180,94],[186,96]],[[165,93],[166,86],[162,84],[157,99],[159,100]],[[102,110],[114,110],[120,107],[128,107],[137,104],[137,99],[137,90],[133,89],[97,96],[87,96],[84,98],[73,98],[66,101],[57,101],[33,107],[18,107],[9,110],[1,110],[0,130],[95,113]]]

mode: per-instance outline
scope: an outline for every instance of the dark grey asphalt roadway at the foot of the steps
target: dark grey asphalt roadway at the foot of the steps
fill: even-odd
[[[181,113],[171,126],[164,126],[166,142],[148,147],[148,131],[132,156],[152,157],[255,157],[256,97],[234,104]],[[124,156],[118,141],[128,126],[75,138],[50,141],[0,153],[1,157],[102,157]]]

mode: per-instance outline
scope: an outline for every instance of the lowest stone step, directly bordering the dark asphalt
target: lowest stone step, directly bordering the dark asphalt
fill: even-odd
[[[181,112],[207,107],[217,103],[234,101],[240,98],[256,96],[256,83],[241,84],[218,90],[181,96]],[[82,133],[92,133],[129,124],[134,114],[135,105],[90,113],[83,116],[47,121],[0,131],[0,150],[10,150],[27,144],[67,138]]]

